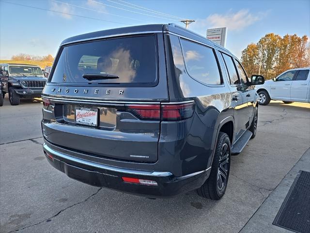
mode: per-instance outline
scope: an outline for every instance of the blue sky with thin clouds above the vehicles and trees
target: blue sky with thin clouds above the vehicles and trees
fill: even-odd
[[[310,37],[310,0],[0,0],[0,59],[55,56],[62,40],[74,35],[153,23],[184,26],[182,19],[196,20],[189,30],[202,36],[208,28],[227,27],[226,48],[240,58],[266,33]]]

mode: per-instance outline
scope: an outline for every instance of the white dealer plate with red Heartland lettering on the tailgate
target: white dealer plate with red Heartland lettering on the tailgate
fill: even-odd
[[[88,126],[97,126],[98,109],[76,107],[76,123]]]

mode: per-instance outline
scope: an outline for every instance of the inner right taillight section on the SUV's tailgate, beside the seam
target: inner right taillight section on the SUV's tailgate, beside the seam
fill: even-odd
[[[141,119],[160,120],[159,104],[129,104],[127,109]]]

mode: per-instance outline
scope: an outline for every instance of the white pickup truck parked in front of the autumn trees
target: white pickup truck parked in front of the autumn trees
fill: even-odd
[[[267,105],[270,100],[284,103],[310,103],[310,67],[289,69],[273,80],[265,81],[257,93],[259,104]]]

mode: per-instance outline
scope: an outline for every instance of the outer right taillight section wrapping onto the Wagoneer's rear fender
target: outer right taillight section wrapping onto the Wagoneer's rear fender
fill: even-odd
[[[163,104],[161,105],[161,119],[164,121],[185,120],[193,116],[195,103]]]

